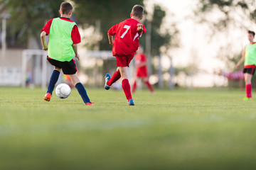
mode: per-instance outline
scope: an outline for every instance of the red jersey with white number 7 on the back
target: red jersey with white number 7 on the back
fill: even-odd
[[[139,38],[142,33],[146,33],[146,28],[143,26],[143,31],[139,33],[137,30],[137,21],[134,18],[129,18],[117,25],[112,26],[107,31],[110,35],[115,35],[112,48],[113,56],[134,56],[139,47]]]

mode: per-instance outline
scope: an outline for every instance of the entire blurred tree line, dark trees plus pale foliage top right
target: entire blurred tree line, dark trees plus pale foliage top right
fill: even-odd
[[[4,1],[0,0],[0,13],[8,12],[10,18],[7,21],[7,40],[8,47],[26,48],[29,38],[35,38],[38,47],[41,47],[39,35],[41,28],[48,19],[60,16],[58,10],[60,0],[23,0],[23,1]],[[129,18],[129,13],[134,4],[144,6],[144,0],[73,0],[75,8],[73,20],[82,28],[99,27],[98,33],[101,35],[97,43],[99,50],[111,50],[107,41],[107,30],[116,23]],[[217,19],[213,20],[211,15],[218,13]],[[197,8],[194,11],[194,21],[206,23],[210,28],[209,35],[237,27],[245,30],[250,29],[250,23],[244,21],[256,21],[256,1],[255,0],[198,0]],[[166,52],[171,47],[178,47],[178,29],[174,25],[162,29],[166,11],[154,5],[153,13],[144,13],[142,21],[146,27],[151,24],[151,55],[159,55]],[[100,24],[97,24],[100,23]],[[93,37],[94,35],[92,35]],[[142,36],[141,45],[145,47],[145,36]],[[88,44],[88,49],[93,50],[95,44]],[[230,54],[230,44],[220,47],[220,52],[225,53],[228,64],[239,60],[240,54]],[[231,64],[231,65],[233,65]],[[230,66],[232,68],[233,66]]]

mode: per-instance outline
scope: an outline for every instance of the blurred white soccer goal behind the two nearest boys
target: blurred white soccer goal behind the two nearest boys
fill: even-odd
[[[105,74],[113,74],[116,69],[116,60],[112,56],[112,51],[87,51],[80,50],[80,61],[74,58],[78,67],[78,77],[82,84],[87,86],[100,87],[104,84]],[[50,80],[50,75],[54,67],[48,63],[47,52],[43,50],[23,50],[21,85],[23,87],[41,86],[46,89]],[[130,64],[129,77],[134,74],[134,63]],[[63,82],[63,73],[56,84]]]

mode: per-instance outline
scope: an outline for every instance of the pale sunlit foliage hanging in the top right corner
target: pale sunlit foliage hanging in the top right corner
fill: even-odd
[[[218,15],[209,17],[208,14],[213,11]],[[217,30],[226,29],[231,25],[247,28],[245,21],[256,21],[256,1],[198,0],[195,13],[201,22],[211,24]]]

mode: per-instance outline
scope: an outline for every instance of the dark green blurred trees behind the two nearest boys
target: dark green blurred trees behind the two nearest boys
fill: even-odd
[[[60,16],[58,10],[63,1],[60,0],[23,0],[23,1],[4,1],[0,0],[0,13],[4,11],[10,14],[7,22],[8,33],[7,40],[9,47],[24,47],[28,44],[29,38],[35,38],[38,47],[41,47],[39,35],[41,28],[48,19]],[[87,28],[95,26],[97,21],[100,21],[100,35],[102,38],[99,42],[100,50],[111,50],[107,40],[107,30],[116,23],[130,17],[134,4],[144,6],[143,0],[73,0],[71,1],[75,10],[73,12],[73,20],[79,26]],[[144,24],[146,25],[146,11]],[[159,28],[162,25],[163,18],[166,16],[161,6],[154,6],[154,14],[152,18],[151,28],[151,47],[153,55],[159,55],[159,48],[162,45],[169,47],[172,42],[173,35],[167,30],[165,33],[160,33]],[[178,31],[174,31],[176,34]],[[92,35],[93,36],[93,35]],[[142,45],[145,45],[145,40],[142,40]],[[88,45],[93,49],[93,45]]]

